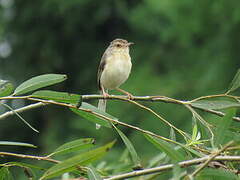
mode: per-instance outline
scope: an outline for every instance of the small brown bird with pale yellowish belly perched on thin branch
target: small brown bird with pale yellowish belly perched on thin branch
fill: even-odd
[[[114,39],[102,55],[98,73],[97,83],[100,93],[106,98],[109,96],[108,90],[118,90],[128,96],[132,95],[120,89],[121,86],[129,77],[132,68],[131,57],[129,54],[129,47],[134,44],[124,39]],[[98,102],[98,109],[106,111],[106,99],[100,99]],[[99,129],[100,125],[97,124]]]

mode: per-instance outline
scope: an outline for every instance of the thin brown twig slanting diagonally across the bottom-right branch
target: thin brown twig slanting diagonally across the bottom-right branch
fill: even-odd
[[[233,144],[233,141],[230,141],[229,143],[227,143],[223,148],[221,148],[220,150],[218,150],[217,152],[214,152],[212,154],[209,155],[209,158],[207,161],[205,161],[201,166],[199,166],[199,168],[197,168],[190,176],[194,177],[196,176],[203,168],[205,168],[216,156],[218,156],[219,154],[221,154],[222,152],[224,152],[229,146],[231,146]]]

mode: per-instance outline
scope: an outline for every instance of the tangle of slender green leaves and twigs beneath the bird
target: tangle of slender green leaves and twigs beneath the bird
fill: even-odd
[[[236,76],[238,76],[239,73],[237,73]],[[169,127],[171,127],[171,137],[166,138],[163,136],[160,136],[158,134],[155,134],[151,131],[146,131],[144,129],[141,129],[136,126],[132,126],[127,123],[123,123],[118,121],[117,118],[111,116],[110,114],[106,112],[100,111],[98,108],[94,107],[93,105],[90,105],[86,102],[82,102],[85,99],[89,99],[90,96],[84,96],[84,95],[77,95],[77,94],[69,94],[67,92],[57,92],[57,91],[38,91],[38,89],[53,85],[59,82],[62,82],[66,79],[65,75],[62,74],[44,74],[40,76],[33,77],[22,84],[20,84],[18,87],[15,88],[15,90],[7,95],[0,97],[0,100],[12,100],[12,99],[25,99],[29,101],[36,101],[38,103],[41,103],[41,105],[48,105],[48,104],[54,104],[62,107],[66,107],[71,109],[73,112],[78,114],[79,116],[84,117],[86,120],[89,120],[94,123],[101,124],[102,126],[112,128],[113,130],[116,130],[116,132],[120,135],[122,138],[126,149],[129,153],[129,155],[124,155],[125,158],[129,159],[128,161],[123,161],[122,166],[116,167],[116,161],[120,161],[121,158],[114,159],[114,161],[110,161],[109,163],[105,164],[104,166],[100,166],[100,164],[96,166],[94,161],[103,158],[103,156],[106,153],[109,153],[110,148],[114,145],[115,141],[112,141],[104,146],[100,146],[98,148],[95,147],[95,140],[93,138],[82,138],[78,140],[74,140],[71,142],[67,142],[62,146],[59,146],[55,151],[52,153],[49,153],[46,156],[32,156],[32,155],[25,155],[25,154],[18,154],[18,153],[10,153],[10,152],[0,152],[1,156],[15,156],[18,158],[28,158],[28,159],[36,159],[36,160],[42,160],[46,161],[48,163],[55,163],[55,165],[52,165],[48,168],[41,167],[41,166],[35,166],[32,165],[32,163],[21,163],[21,162],[11,162],[6,161],[5,163],[0,164],[0,177],[2,179],[11,179],[12,178],[12,167],[20,167],[24,169],[25,176],[28,178],[34,178],[34,179],[51,179],[53,177],[62,176],[64,178],[64,175],[67,175],[69,177],[86,177],[89,179],[108,179],[109,176],[110,179],[125,179],[133,176],[140,176],[140,175],[148,175],[147,177],[149,179],[155,177],[155,173],[158,172],[164,172],[164,170],[172,169],[172,176],[174,179],[180,178],[180,177],[186,177],[186,178],[193,178],[196,176],[197,179],[203,179],[205,177],[219,177],[219,178],[237,178],[237,165],[234,163],[234,161],[231,161],[231,155],[235,155],[239,153],[239,140],[230,141],[228,140],[228,134],[229,131],[231,133],[236,133],[235,137],[232,139],[237,139],[239,135],[237,135],[236,130],[231,129],[231,124],[233,120],[237,120],[239,122],[239,118],[235,117],[235,108],[239,108],[239,102],[240,97],[234,96],[230,94],[234,90],[237,90],[237,87],[239,82],[239,78],[234,78],[232,86],[229,88],[230,90],[226,91],[225,94],[218,94],[218,95],[209,95],[209,96],[202,96],[196,99],[193,99],[192,101],[180,101],[177,99],[172,99],[168,97],[163,96],[147,96],[142,97],[145,98],[145,100],[149,101],[163,101],[163,102],[169,102],[169,103],[177,103],[179,105],[185,106],[190,112],[192,112],[193,115],[193,130],[192,130],[192,136],[190,137],[187,132],[182,132],[175,126],[173,126],[171,123],[167,123]],[[8,89],[12,89],[12,86],[9,86],[9,84],[2,85],[1,91],[6,92]],[[1,93],[0,91],[0,93]],[[35,92],[32,92],[35,91]],[[9,91],[10,92],[10,91]],[[21,95],[21,96],[20,96]],[[93,95],[92,98],[99,98],[99,96]],[[122,100],[128,100],[127,97],[119,97],[119,96],[113,96],[110,98],[116,98],[116,99],[122,99]],[[212,101],[212,99],[214,100]],[[216,98],[227,98],[228,100],[221,101],[216,100]],[[134,100],[134,101],[133,101]],[[130,103],[134,103],[135,105],[143,108],[143,109],[149,109],[144,105],[141,105],[140,103],[137,103],[135,101],[138,101],[137,97],[133,97],[133,100],[128,100]],[[234,106],[229,106],[230,102],[234,104]],[[207,103],[206,103],[207,102]],[[222,104],[223,102],[223,104]],[[2,105],[5,104],[5,102],[1,102]],[[228,104],[226,106],[225,104]],[[6,104],[5,104],[6,105]],[[34,105],[34,104],[33,104]],[[6,106],[9,107],[9,106]],[[17,114],[19,117],[20,112],[22,111],[28,111],[32,109],[33,106],[27,106],[22,110],[23,108],[15,109],[13,110],[10,108],[9,112],[6,112],[2,115],[0,115],[0,120],[6,118],[6,114],[14,112],[13,114]],[[194,110],[194,108],[201,109],[201,110],[208,110],[209,113],[213,113],[215,115],[221,115],[224,116],[221,118],[221,122],[218,122],[216,124],[210,124],[206,122],[205,119],[201,117],[201,115]],[[224,112],[219,111],[222,109],[229,109],[227,110],[226,114]],[[214,110],[214,111],[213,111]],[[218,111],[216,111],[218,110]],[[151,111],[154,115],[156,113],[154,111]],[[160,117],[160,116],[158,116]],[[22,117],[21,117],[22,118]],[[23,119],[23,118],[22,118]],[[161,121],[166,122],[165,119],[160,118]],[[26,122],[26,120],[24,120]],[[27,122],[26,122],[27,123]],[[201,126],[202,128],[205,128],[205,131],[200,132],[198,130],[198,126]],[[29,124],[27,124],[29,126]],[[116,125],[125,126],[129,129],[135,130],[143,134],[146,139],[153,145],[156,146],[159,149],[159,153],[161,155],[161,158],[158,159],[157,162],[154,164],[149,162],[149,167],[146,169],[142,169],[143,165],[141,163],[141,158],[138,156],[137,151],[135,150],[135,147],[133,143],[130,141],[130,139],[119,129],[116,127]],[[30,126],[31,127],[31,126]],[[173,129],[174,127],[174,129]],[[34,129],[33,129],[34,130]],[[179,133],[182,138],[180,141],[176,141],[175,133]],[[207,139],[203,139],[203,137]],[[171,139],[172,138],[172,139]],[[183,141],[183,142],[182,142]],[[209,143],[210,142],[210,143]],[[228,142],[228,143],[227,143]],[[227,144],[226,144],[227,143]],[[224,145],[226,144],[226,145]],[[10,141],[1,141],[0,145],[11,145],[11,146],[26,146],[26,147],[34,147],[36,146],[28,143],[21,143],[21,142],[10,142]],[[94,149],[93,149],[94,147]],[[228,153],[228,156],[220,156],[222,153],[226,154]],[[64,155],[64,156],[63,156]],[[238,160],[240,161],[240,156],[237,156]],[[199,159],[196,159],[199,158]],[[214,165],[210,165],[211,163],[216,163],[217,161],[214,161],[215,158],[222,159],[223,161],[229,161],[228,164],[220,165],[220,169],[214,169]],[[61,160],[60,160],[61,159]],[[199,166],[196,166],[196,161],[199,161],[202,163]],[[161,163],[163,162],[172,162],[173,164],[168,165],[165,167],[164,165],[161,166]],[[94,167],[95,164],[95,167]],[[158,167],[156,167],[156,165]],[[188,173],[188,166],[192,166],[193,172]],[[219,166],[219,164],[218,164]],[[212,167],[213,169],[209,169],[207,167]],[[126,171],[131,170],[132,173],[124,173]],[[186,170],[183,170],[185,168]],[[113,171],[115,170],[115,171]],[[138,170],[135,171],[134,170]],[[35,175],[35,171],[43,171],[43,173],[40,173],[40,177]],[[225,173],[227,171],[227,174]],[[199,173],[200,172],[200,173]],[[114,176],[114,174],[117,173],[119,175]],[[169,174],[170,175],[170,174]]]

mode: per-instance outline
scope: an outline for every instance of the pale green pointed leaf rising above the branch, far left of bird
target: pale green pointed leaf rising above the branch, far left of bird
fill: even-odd
[[[22,84],[20,84],[14,91],[13,95],[26,94],[27,92],[34,91],[36,89],[57,84],[67,79],[64,74],[44,74],[33,77]]]

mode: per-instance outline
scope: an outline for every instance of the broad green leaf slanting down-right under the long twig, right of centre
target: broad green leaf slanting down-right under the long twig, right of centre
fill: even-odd
[[[154,146],[156,146],[161,151],[165,152],[173,161],[179,162],[179,161],[185,160],[184,155],[182,153],[180,153],[179,151],[175,150],[173,148],[173,146],[170,145],[169,143],[167,143],[161,139],[154,138],[147,134],[144,134],[144,136],[150,143],[152,143]]]

